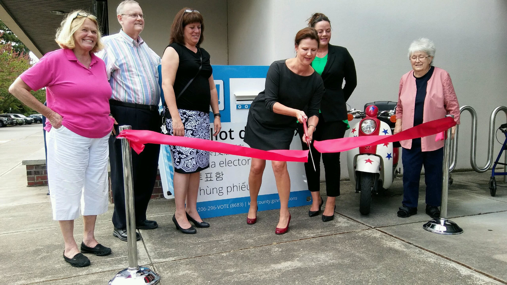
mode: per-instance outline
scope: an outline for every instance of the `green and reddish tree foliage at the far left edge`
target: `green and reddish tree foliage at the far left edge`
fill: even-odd
[[[2,26],[3,25],[3,26]],[[4,23],[0,21],[0,113],[17,113],[25,116],[35,114],[34,110],[28,108],[20,100],[9,93],[9,86],[21,75],[30,64],[30,57],[28,56],[28,49],[23,43],[19,42],[16,35],[12,34],[14,42],[4,43],[3,36],[5,35]],[[4,30],[4,31],[2,31]],[[9,30],[10,31],[10,30]],[[11,32],[12,33],[12,32]],[[9,38],[11,39],[11,38]],[[14,44],[16,41],[19,44]],[[44,89],[31,92],[39,101],[46,101],[46,91]]]

